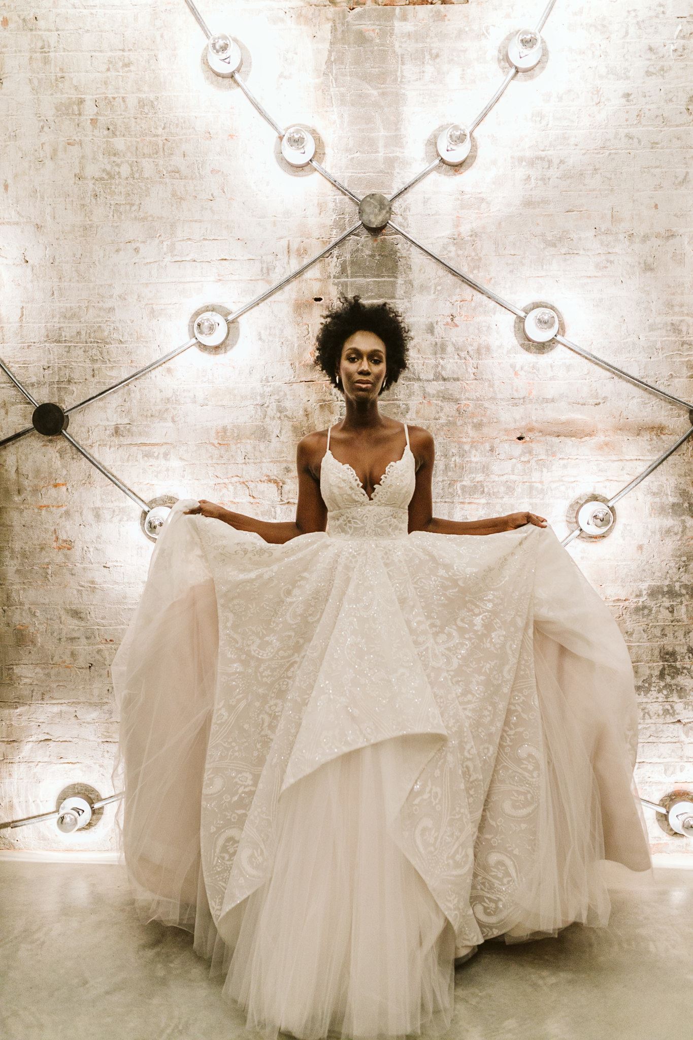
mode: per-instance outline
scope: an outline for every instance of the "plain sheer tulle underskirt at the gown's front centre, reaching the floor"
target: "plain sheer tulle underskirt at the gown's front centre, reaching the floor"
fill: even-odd
[[[279,800],[271,877],[194,948],[267,1038],[434,1035],[453,1012],[455,935],[398,841],[399,740],[349,752]]]

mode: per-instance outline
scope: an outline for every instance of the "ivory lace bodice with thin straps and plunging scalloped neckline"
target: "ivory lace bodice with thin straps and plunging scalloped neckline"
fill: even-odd
[[[369,498],[353,466],[339,462],[329,449],[320,465],[320,493],[327,506],[327,534],[334,538],[404,538],[408,532],[409,502],[416,485],[416,460],[406,445],[402,457],[388,463]]]

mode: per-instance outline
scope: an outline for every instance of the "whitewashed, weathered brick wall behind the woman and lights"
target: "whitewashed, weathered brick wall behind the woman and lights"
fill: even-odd
[[[250,56],[242,75],[283,126],[319,133],[357,193],[391,193],[469,122],[505,71],[500,45],[543,4],[198,0]],[[401,224],[569,338],[687,400],[693,18],[683,0],[558,0],[549,60],[481,124],[469,168],[439,170]],[[5,0],[0,17],[1,356],[68,407],[188,338],[191,313],[251,298],[355,217],[317,173],[281,168],[273,132],[205,67],[183,0]],[[410,320],[410,368],[383,400],[436,439],[435,514],[531,509],[567,534],[580,495],[614,494],[689,426],[687,411],[558,346],[524,350],[513,319],[391,233],[362,232],[239,322],[220,358],[191,348],[73,413],[70,433],[127,486],[293,516],[296,441],[341,398],[311,364],[340,290]],[[0,373],[2,434],[31,406]],[[110,794],[108,668],[152,551],[138,508],[63,438],[2,450],[0,820],[55,808],[70,783]],[[690,441],[568,551],[629,643],[641,706],[637,781],[693,790]],[[687,555],[688,553],[688,555]],[[688,612],[688,613],[687,613]],[[107,808],[82,834],[0,832],[0,848],[113,847]],[[667,839],[645,810],[656,851]]]

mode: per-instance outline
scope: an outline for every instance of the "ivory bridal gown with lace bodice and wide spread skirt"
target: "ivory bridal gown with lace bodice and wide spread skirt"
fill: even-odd
[[[284,545],[177,502],[111,669],[136,912],[270,1038],[439,1034],[455,959],[651,868],[615,620],[550,526],[408,534],[404,433],[370,498],[328,435]]]

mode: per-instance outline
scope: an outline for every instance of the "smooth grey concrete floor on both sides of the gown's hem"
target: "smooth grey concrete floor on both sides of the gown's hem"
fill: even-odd
[[[446,1040],[693,1037],[693,870],[612,889],[607,929],[489,942],[456,971]],[[192,936],[142,927],[115,864],[0,862],[3,1040],[235,1040]]]

